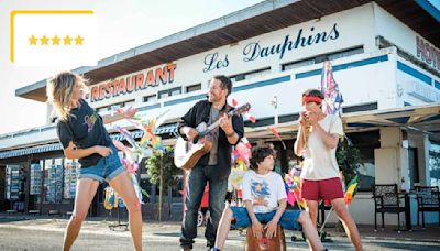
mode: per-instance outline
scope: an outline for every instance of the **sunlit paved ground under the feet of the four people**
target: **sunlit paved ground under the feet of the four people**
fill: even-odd
[[[0,250],[62,250],[66,220],[22,220],[0,223]],[[107,221],[85,222],[80,236],[72,250],[133,250],[130,232],[123,229],[111,231]],[[144,250],[176,251],[179,250],[178,223],[146,223],[143,228]],[[199,229],[195,250],[205,250],[205,229]],[[286,236],[298,232],[286,231]],[[226,250],[242,251],[245,237],[239,231],[231,231]],[[354,250],[351,242],[343,236],[331,236],[332,242],[326,242],[329,250]],[[439,241],[415,240],[408,238],[383,239],[380,237],[363,237],[365,250],[440,250]],[[306,242],[287,239],[287,250],[308,250]]]

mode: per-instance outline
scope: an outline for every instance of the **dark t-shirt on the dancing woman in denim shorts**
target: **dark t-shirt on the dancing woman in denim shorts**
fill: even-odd
[[[84,100],[79,107],[70,110],[66,121],[58,120],[56,133],[59,142],[66,149],[73,141],[78,149],[88,149],[94,145],[110,146],[111,139],[103,127],[102,118]],[[98,153],[79,159],[81,168],[96,165],[102,156]]]

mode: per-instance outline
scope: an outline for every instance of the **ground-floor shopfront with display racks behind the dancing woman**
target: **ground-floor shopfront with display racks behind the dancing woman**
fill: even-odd
[[[174,130],[175,127],[163,127],[160,132],[170,133]],[[135,139],[140,139],[142,133],[134,131],[133,135]],[[111,137],[113,140],[123,140],[121,134],[112,134]],[[124,157],[122,152],[119,154]],[[1,163],[4,163],[4,168],[2,168],[4,171],[2,211],[31,211],[33,214],[67,216],[73,210],[80,164],[77,160],[64,157],[59,143],[7,151],[2,153],[1,157]],[[146,172],[144,161],[141,162],[139,173]],[[146,205],[155,204],[158,195],[157,187],[152,185],[145,175],[139,175],[139,178],[142,188],[152,195],[144,197],[144,203]],[[89,209],[90,216],[107,216],[111,212],[102,206],[106,187],[107,184],[99,185],[97,196]],[[178,187],[175,189],[177,190]],[[168,194],[172,195],[172,193],[170,189]],[[111,212],[113,216],[117,215],[116,210],[113,209]],[[155,216],[152,212],[150,214],[151,218]]]

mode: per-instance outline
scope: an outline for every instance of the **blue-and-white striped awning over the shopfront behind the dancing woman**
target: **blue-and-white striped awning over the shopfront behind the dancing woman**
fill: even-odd
[[[131,132],[134,139],[142,138],[144,132],[142,130],[135,130]],[[165,133],[177,133],[177,124],[166,124],[157,128],[155,130],[155,134],[165,134]],[[124,135],[121,133],[110,134],[112,140],[123,141],[125,139]],[[35,153],[44,153],[44,152],[53,152],[53,151],[61,151],[63,146],[61,143],[51,143],[51,144],[43,144],[36,146],[30,146],[24,149],[16,149],[16,150],[9,150],[0,152],[0,160],[8,159],[8,157],[16,157],[23,156],[28,154],[35,154]]]

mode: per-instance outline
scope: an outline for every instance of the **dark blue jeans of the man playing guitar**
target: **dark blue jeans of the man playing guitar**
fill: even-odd
[[[217,228],[224,209],[224,201],[228,192],[228,178],[219,179],[216,165],[196,165],[188,177],[186,187],[186,210],[182,222],[180,247],[193,249],[194,238],[197,237],[197,214],[205,193],[205,186],[209,182],[209,212],[205,237],[208,245],[216,243]]]

